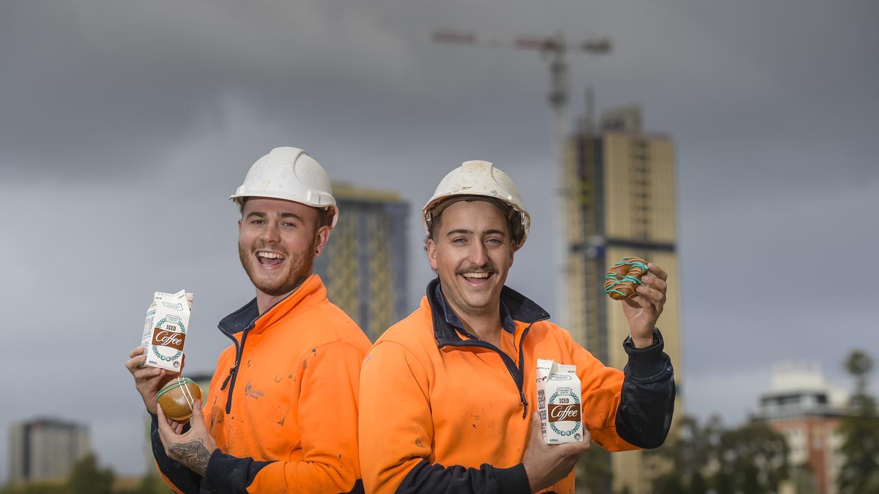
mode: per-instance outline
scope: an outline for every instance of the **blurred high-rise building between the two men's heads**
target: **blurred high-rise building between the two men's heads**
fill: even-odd
[[[407,306],[409,204],[396,193],[334,184],[339,218],[315,272],[371,340],[402,319]]]

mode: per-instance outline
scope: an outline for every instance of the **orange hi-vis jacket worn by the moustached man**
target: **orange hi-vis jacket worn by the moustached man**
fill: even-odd
[[[421,306],[375,342],[360,374],[367,492],[530,493],[522,457],[536,411],[538,359],[577,366],[583,422],[601,447],[622,451],[665,440],[675,388],[658,330],[647,348],[627,340],[623,373],[508,287],[500,307],[498,348],[462,329],[433,280]],[[574,474],[548,491],[572,494]]]

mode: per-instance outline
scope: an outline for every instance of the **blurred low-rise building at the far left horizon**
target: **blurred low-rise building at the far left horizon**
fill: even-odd
[[[76,461],[89,454],[86,425],[57,418],[34,418],[10,427],[10,483],[66,479]]]

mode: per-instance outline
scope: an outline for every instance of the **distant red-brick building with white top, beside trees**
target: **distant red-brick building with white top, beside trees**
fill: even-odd
[[[837,491],[844,403],[845,394],[825,382],[819,364],[785,362],[775,367],[772,388],[759,396],[753,412],[754,420],[784,435],[788,464],[805,468],[818,494]]]

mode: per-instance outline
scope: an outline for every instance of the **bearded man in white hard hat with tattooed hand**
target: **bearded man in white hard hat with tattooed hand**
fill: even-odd
[[[312,273],[338,219],[330,178],[302,149],[272,149],[229,199],[256,298],[220,322],[232,345],[190,425],[156,406],[171,376],[138,367],[142,348],[127,362],[159,473],[176,492],[362,492],[357,395],[369,340]]]

